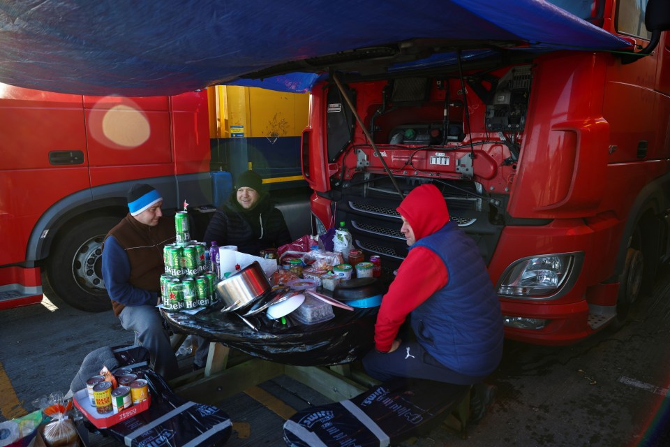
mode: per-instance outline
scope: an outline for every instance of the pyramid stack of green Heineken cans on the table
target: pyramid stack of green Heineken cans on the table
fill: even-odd
[[[163,307],[170,311],[209,307],[216,302],[216,274],[210,270],[207,244],[191,240],[186,210],[175,214],[174,227],[177,242],[163,247]]]

